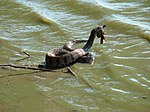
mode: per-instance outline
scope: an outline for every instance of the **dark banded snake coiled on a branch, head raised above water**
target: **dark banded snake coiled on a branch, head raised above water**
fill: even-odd
[[[103,29],[106,25],[94,28],[88,40],[69,41],[62,48],[53,49],[49,51],[45,56],[45,68],[46,69],[61,69],[69,67],[77,62],[79,63],[91,63],[93,62],[93,55],[88,53],[92,47],[95,37],[101,37],[100,44],[106,40]],[[73,49],[74,44],[86,42],[83,48]]]

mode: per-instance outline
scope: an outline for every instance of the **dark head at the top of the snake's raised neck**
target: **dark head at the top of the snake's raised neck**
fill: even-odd
[[[106,38],[105,38],[105,36],[104,36],[104,28],[106,27],[106,25],[103,25],[103,26],[99,26],[99,27],[97,27],[97,28],[95,28],[95,30],[97,31],[97,37],[98,38],[101,38],[101,40],[100,40],[100,44],[103,44],[105,41],[106,41]]]

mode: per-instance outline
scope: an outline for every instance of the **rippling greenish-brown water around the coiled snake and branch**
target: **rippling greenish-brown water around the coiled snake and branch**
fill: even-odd
[[[149,0],[0,0],[0,64],[38,65],[107,25],[94,64],[71,67],[76,77],[0,68],[0,112],[150,112],[149,12]],[[23,50],[31,58],[17,61]]]

